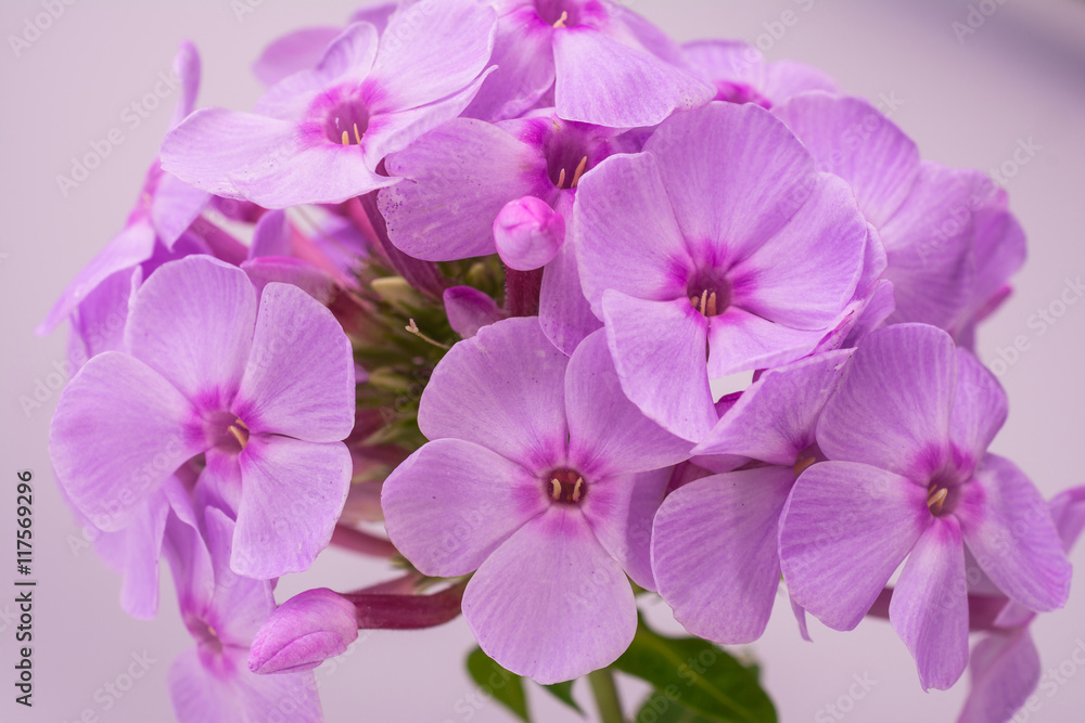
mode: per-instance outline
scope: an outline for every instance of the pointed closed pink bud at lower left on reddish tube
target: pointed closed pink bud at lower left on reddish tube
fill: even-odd
[[[346,650],[358,637],[354,605],[328,590],[307,590],[291,597],[257,631],[248,651],[254,673],[311,670]]]

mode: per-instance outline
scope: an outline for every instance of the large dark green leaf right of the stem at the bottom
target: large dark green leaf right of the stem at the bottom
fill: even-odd
[[[641,619],[633,644],[614,667],[648,681],[664,699],[680,703],[705,721],[777,721],[756,671],[699,637],[664,637]]]

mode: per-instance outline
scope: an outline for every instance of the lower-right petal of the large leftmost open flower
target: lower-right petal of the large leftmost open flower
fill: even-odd
[[[308,569],[328,546],[346,501],[350,452],[340,442],[254,435],[240,460],[231,568],[259,579]]]

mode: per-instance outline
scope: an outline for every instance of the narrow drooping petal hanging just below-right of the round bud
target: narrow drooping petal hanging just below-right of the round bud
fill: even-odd
[[[565,218],[572,218],[572,215]],[[591,312],[591,305],[584,296],[576,260],[576,244],[567,237],[558,250],[558,256],[542,272],[539,325],[547,338],[566,354],[573,353],[588,334],[603,327],[599,318]]]

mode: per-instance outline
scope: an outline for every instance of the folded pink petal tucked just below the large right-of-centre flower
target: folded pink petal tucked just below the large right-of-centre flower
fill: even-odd
[[[735,457],[736,466],[744,460],[794,465],[800,452],[814,443],[821,409],[837,390],[851,356],[851,350],[830,351],[766,372],[742,392],[694,453],[713,455],[717,464]]]

